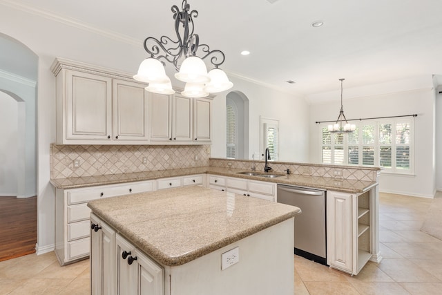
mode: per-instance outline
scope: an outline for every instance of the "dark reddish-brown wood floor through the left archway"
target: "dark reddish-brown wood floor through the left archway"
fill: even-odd
[[[0,197],[0,261],[35,253],[37,197]]]

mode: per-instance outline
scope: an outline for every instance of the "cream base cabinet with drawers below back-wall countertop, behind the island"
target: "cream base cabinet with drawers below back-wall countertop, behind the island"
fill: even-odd
[[[55,196],[55,254],[61,265],[87,258],[90,251],[90,209],[99,198],[153,191],[153,181],[129,182],[80,189],[57,189]]]

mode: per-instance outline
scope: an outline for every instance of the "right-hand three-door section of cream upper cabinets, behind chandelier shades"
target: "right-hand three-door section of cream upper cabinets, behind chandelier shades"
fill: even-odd
[[[211,141],[211,99],[149,94],[150,141],[204,144]]]

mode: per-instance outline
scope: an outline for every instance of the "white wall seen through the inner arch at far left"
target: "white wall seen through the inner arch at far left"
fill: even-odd
[[[0,91],[0,197],[17,196],[18,102]]]

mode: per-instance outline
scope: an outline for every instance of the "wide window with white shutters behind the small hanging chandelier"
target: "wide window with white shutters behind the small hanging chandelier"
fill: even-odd
[[[320,124],[324,164],[383,166],[383,172],[412,174],[414,118],[361,121],[353,133],[329,133]]]

